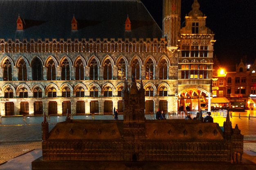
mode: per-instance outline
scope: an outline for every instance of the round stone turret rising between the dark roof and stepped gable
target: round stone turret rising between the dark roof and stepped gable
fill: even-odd
[[[163,37],[168,41],[167,49],[178,49],[180,31],[181,0],[163,0]]]

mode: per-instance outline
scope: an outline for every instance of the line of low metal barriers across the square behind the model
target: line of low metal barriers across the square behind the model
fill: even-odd
[[[187,114],[191,114],[191,118],[196,117],[198,111],[171,111],[166,113],[166,119],[184,119]],[[205,117],[207,115],[207,111],[202,111],[202,116]],[[253,116],[241,116],[239,115],[232,115],[232,112],[229,113],[230,117],[248,117],[249,119]],[[221,116],[227,117],[227,110],[214,110],[211,111],[211,116]],[[15,115],[15,116],[2,116],[0,117],[0,126],[23,126],[23,125],[40,125],[43,122],[43,115]],[[75,114],[70,116],[71,119],[84,119],[84,120],[113,120],[113,114],[108,113],[104,115],[99,114]],[[124,120],[123,113],[118,115],[119,120]],[[255,118],[255,117],[253,117]],[[145,119],[147,120],[155,120],[155,113],[153,112],[146,112]],[[66,120],[66,115],[48,115],[47,121],[49,124],[57,124],[59,122],[63,122]]]

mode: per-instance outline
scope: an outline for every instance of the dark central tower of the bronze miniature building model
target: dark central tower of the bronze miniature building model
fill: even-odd
[[[146,141],[145,132],[145,90],[140,83],[138,90],[135,77],[132,76],[132,84],[128,90],[125,80],[123,91],[124,111],[124,160],[144,160],[144,148]]]

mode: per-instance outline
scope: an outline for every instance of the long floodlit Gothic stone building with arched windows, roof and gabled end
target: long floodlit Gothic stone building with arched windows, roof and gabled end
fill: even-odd
[[[162,31],[139,0],[1,1],[0,115],[121,114],[132,75],[146,114],[200,109],[215,40],[192,3],[180,29],[181,1],[164,0]]]

